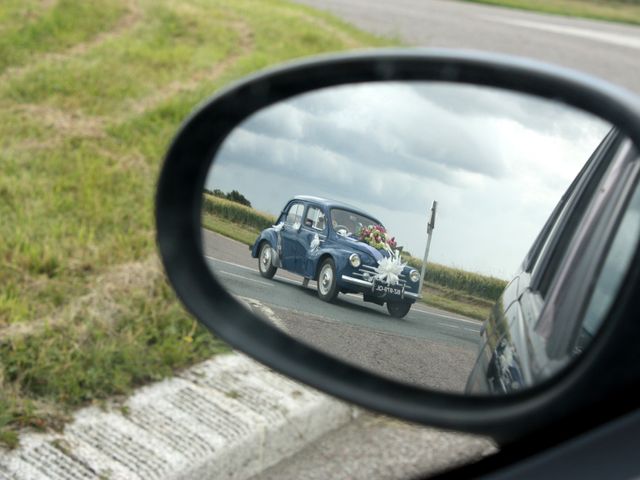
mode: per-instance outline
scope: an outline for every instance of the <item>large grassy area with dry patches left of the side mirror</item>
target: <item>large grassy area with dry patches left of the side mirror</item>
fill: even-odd
[[[186,115],[257,69],[395,43],[280,0],[0,3],[0,445],[227,350],[152,261]]]

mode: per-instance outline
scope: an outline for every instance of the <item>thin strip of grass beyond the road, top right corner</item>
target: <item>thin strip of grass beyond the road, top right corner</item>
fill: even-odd
[[[640,25],[638,0],[464,0],[567,17]]]

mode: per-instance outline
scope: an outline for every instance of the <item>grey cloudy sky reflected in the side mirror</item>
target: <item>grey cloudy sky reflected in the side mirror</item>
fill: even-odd
[[[486,87],[387,82],[268,107],[225,140],[206,186],[277,215],[294,195],[356,205],[422,257],[509,278],[610,126]]]

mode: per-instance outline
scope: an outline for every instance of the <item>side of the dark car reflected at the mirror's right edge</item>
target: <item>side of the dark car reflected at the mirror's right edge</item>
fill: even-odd
[[[637,157],[615,130],[592,154],[484,323],[469,393],[539,384],[588,346],[636,249]]]

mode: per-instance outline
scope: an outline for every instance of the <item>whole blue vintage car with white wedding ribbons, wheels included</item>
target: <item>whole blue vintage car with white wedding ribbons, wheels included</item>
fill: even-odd
[[[251,248],[260,274],[272,278],[278,268],[318,283],[318,297],[331,302],[338,293],[362,293],[366,302],[386,303],[389,314],[404,317],[420,297],[420,273],[399,267],[386,269],[394,260],[389,250],[359,241],[363,227],[382,225],[375,217],[345,203],[296,196],[263,230]],[[385,261],[386,259],[386,261]]]

